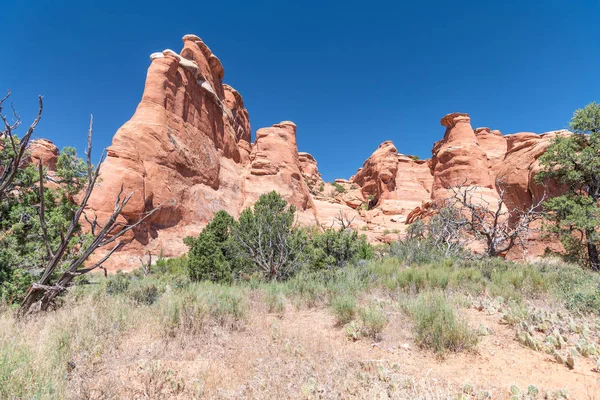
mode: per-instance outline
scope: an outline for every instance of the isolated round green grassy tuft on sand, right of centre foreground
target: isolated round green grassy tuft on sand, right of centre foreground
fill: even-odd
[[[439,356],[446,352],[471,350],[478,338],[466,320],[457,317],[443,294],[426,292],[409,304],[409,315],[415,324],[416,342]]]

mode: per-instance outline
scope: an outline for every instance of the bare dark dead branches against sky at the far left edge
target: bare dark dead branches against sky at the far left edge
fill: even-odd
[[[15,130],[22,123],[21,117],[19,117],[12,105],[13,123],[10,123],[8,118],[2,113],[4,102],[10,97],[10,94],[9,90],[6,96],[0,99],[0,119],[2,119],[4,125],[2,131],[0,131],[0,199],[11,191],[17,172],[23,166],[23,160],[29,147],[31,135],[42,118],[42,109],[44,106],[42,96],[39,96],[37,117],[33,120],[29,129],[27,129],[25,135],[19,139],[15,135]]]

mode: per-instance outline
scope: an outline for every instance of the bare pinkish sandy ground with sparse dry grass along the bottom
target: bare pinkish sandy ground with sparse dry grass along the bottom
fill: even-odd
[[[211,328],[196,337],[165,340],[156,332],[122,339],[86,376],[88,398],[457,398],[508,399],[511,385],[565,390],[570,399],[600,399],[600,374],[591,359],[575,368],[556,363],[515,340],[498,315],[463,310],[472,326],[485,324],[476,353],[440,360],[414,345],[410,322],[392,312],[377,343],[350,341],[327,309],[296,310],[283,317],[252,308],[243,330]],[[92,382],[92,383],[85,383]],[[472,388],[472,390],[471,390]]]

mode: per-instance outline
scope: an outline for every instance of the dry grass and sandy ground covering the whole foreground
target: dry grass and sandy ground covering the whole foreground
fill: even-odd
[[[107,288],[101,280],[35,318],[0,310],[0,398],[486,399],[507,397],[513,384],[596,393],[591,356],[570,371],[515,341],[524,322],[534,339],[545,336],[546,314],[532,311],[530,299],[549,306],[553,278],[511,268],[387,260],[244,286],[149,277]],[[400,298],[409,299],[408,316]],[[584,332],[561,313],[553,323],[575,322],[565,335],[573,346],[584,334],[597,337],[596,319],[586,317]],[[467,319],[490,327],[477,346]],[[479,354],[436,357],[473,346]]]

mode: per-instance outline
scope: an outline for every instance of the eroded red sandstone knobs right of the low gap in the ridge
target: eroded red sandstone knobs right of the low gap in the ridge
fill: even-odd
[[[435,213],[436,205],[453,195],[452,186],[474,187],[473,201],[487,202],[490,206],[497,204],[499,192],[504,190],[505,211],[511,216],[516,210],[537,204],[544,195],[564,192],[565,188],[556,182],[537,184],[535,175],[540,170],[537,159],[550,141],[569,132],[502,136],[489,128],[473,130],[469,116],[462,113],[448,114],[441,123],[446,132],[434,145],[432,159],[416,161],[398,154],[388,141],[379,146],[351,179],[365,196],[376,199],[368,210],[361,211],[370,239],[385,242],[394,233],[396,237],[402,236],[406,224]],[[546,247],[553,250],[560,247],[540,234],[532,234],[528,241],[528,253],[515,250],[508,257],[541,255]]]

